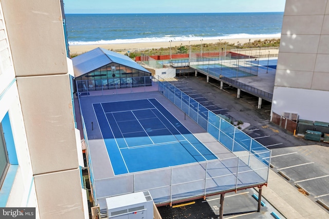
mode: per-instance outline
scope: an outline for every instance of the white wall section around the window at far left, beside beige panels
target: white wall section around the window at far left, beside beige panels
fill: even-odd
[[[0,4],[1,6],[1,4]],[[9,47],[9,39],[5,25],[2,7],[0,7],[0,122],[8,112],[14,144],[16,147],[17,168],[14,181],[6,206],[1,207],[36,207],[36,218],[38,206],[33,204],[36,201],[35,189],[31,187],[33,183],[33,173],[27,144],[24,119],[21,110],[20,97],[15,82],[15,71]],[[28,204],[31,203],[31,204]]]

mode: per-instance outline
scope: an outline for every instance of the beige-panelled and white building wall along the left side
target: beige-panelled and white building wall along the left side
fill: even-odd
[[[88,218],[60,1],[1,0],[0,12],[0,122],[8,112],[19,164],[0,207]]]

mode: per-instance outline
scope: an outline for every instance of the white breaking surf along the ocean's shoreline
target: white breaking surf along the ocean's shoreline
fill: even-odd
[[[199,41],[203,40],[213,40],[213,39],[241,39],[241,38],[277,38],[281,37],[281,33],[275,34],[229,34],[222,36],[208,36],[208,37],[200,37],[200,36],[171,36],[166,35],[163,37],[145,37],[145,38],[134,38],[134,39],[114,39],[114,40],[99,40],[99,41],[70,41],[68,42],[70,45],[95,45],[95,44],[128,44],[128,43],[152,43],[152,42],[169,42],[169,41]]]

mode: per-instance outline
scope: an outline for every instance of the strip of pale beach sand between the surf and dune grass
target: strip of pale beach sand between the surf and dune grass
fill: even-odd
[[[279,37],[278,37],[279,38]],[[276,38],[276,39],[278,39]],[[269,38],[250,38],[250,42],[254,42],[256,40],[260,39],[263,41],[264,39]],[[201,41],[172,41],[171,46],[180,46],[182,44],[183,46],[188,45],[199,45],[201,43],[203,44],[210,44],[210,43],[218,43],[220,42],[218,39],[211,39],[211,40],[203,40]],[[227,42],[229,44],[237,44],[237,42],[244,44],[249,42],[249,38],[239,38],[239,39],[222,39],[222,42]],[[126,44],[95,44],[95,45],[70,45],[69,50],[71,55],[79,55],[84,52],[88,52],[90,50],[93,50],[95,48],[101,47],[103,49],[112,50],[112,51],[144,51],[149,49],[159,49],[159,48],[168,48],[170,47],[169,42],[147,42],[147,43],[126,43]]]

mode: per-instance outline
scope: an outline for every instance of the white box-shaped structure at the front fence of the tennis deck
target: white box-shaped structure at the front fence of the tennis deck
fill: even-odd
[[[153,219],[153,199],[149,191],[106,198],[111,219]]]

